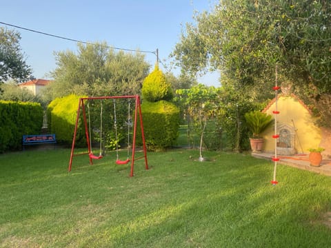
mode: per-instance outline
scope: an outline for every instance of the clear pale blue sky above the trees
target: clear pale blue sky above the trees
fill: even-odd
[[[116,48],[155,51],[163,63],[179,42],[185,23],[194,11],[212,10],[216,0],[10,0],[2,1],[0,21],[23,28],[80,41],[106,41]],[[3,24],[0,24],[4,26]],[[37,78],[48,78],[56,68],[54,52],[77,50],[77,43],[26,30],[21,48]],[[156,56],[146,54],[154,66]],[[161,66],[161,69],[164,70]],[[178,74],[178,70],[173,70]],[[219,74],[208,74],[199,83],[219,86]]]

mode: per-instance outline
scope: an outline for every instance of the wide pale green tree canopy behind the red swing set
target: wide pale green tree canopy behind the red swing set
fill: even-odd
[[[106,43],[77,44],[77,52],[56,52],[52,96],[139,94],[150,65],[143,54],[114,52]]]

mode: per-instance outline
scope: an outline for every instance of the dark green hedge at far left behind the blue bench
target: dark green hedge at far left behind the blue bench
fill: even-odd
[[[40,134],[43,108],[39,103],[0,101],[0,152],[22,147],[24,134]]]

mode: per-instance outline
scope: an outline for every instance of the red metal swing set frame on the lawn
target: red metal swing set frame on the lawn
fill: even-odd
[[[134,161],[145,158],[145,167],[148,169],[148,161],[147,161],[147,150],[146,150],[146,142],[145,142],[145,135],[143,133],[143,118],[141,114],[141,104],[140,104],[140,97],[138,95],[134,96],[95,96],[95,97],[81,97],[79,99],[79,106],[77,110],[77,118],[76,118],[76,124],[74,126],[74,137],[72,139],[72,147],[71,147],[71,153],[70,153],[70,161],[69,161],[69,167],[68,171],[70,172],[72,169],[72,158],[74,156],[79,156],[83,154],[88,154],[89,159],[90,159],[90,165],[93,165],[92,159],[100,159],[102,156],[95,156],[92,154],[92,149],[90,145],[90,136],[89,136],[89,131],[88,131],[88,123],[86,121],[86,107],[84,104],[84,101],[88,100],[103,100],[103,99],[135,99],[135,108],[134,108],[134,129],[133,129],[133,141],[132,141],[132,158],[131,158],[131,169],[130,169],[130,176],[133,176],[133,170],[134,170]],[[81,153],[81,154],[74,154],[74,144],[76,141],[76,136],[77,136],[77,130],[78,130],[78,123],[79,123],[79,116],[80,114],[83,114],[83,121],[84,121],[84,126],[85,126],[85,134],[86,134],[86,141],[88,144],[88,152]],[[136,134],[137,134],[137,116],[139,114],[139,120],[140,120],[140,128],[141,128],[141,138],[143,141],[143,156],[139,158],[135,158],[135,148],[136,148]],[[128,163],[128,161],[126,161]],[[119,163],[117,161],[117,164],[125,164]]]

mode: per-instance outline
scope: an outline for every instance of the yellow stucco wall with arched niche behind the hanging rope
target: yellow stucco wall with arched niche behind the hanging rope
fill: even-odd
[[[272,103],[265,113],[271,114],[276,110],[276,103]],[[297,153],[308,154],[308,149],[312,147],[319,147],[321,143],[321,128],[314,125],[316,118],[312,117],[305,105],[294,98],[294,96],[280,96],[277,101],[277,125],[288,124],[297,129],[295,136],[295,145]],[[294,124],[293,124],[294,122]],[[263,149],[265,152],[274,152],[274,125],[263,132],[265,143]]]

